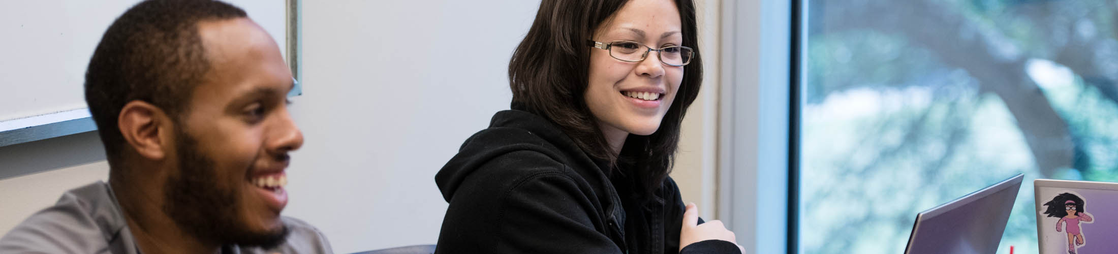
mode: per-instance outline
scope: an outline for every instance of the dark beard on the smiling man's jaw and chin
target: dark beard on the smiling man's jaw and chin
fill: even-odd
[[[271,232],[252,232],[238,219],[240,196],[219,188],[215,162],[198,151],[198,141],[180,128],[176,131],[179,176],[167,182],[163,213],[188,234],[220,245],[259,246],[272,248],[287,238],[287,225]]]

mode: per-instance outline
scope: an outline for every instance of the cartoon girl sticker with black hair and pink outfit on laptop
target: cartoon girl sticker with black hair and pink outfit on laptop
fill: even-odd
[[[1077,246],[1087,244],[1079,223],[1093,222],[1091,214],[1083,210],[1083,199],[1074,194],[1064,192],[1044,203],[1044,206],[1048,206],[1048,210],[1044,211],[1048,217],[1060,217],[1060,220],[1055,222],[1057,232],[1064,232],[1067,225],[1068,254],[1076,254]]]

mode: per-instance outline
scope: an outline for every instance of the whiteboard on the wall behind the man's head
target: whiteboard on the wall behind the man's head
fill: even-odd
[[[7,1],[0,8],[0,145],[92,131],[85,68],[105,29],[139,0]],[[292,2],[228,0],[276,39],[287,59]],[[296,9],[297,10],[297,9]],[[55,126],[46,126],[54,123]]]

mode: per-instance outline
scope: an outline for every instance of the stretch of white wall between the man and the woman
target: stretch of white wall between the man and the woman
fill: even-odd
[[[286,215],[339,253],[434,244],[435,173],[509,107],[512,49],[538,2],[304,1],[305,137]]]

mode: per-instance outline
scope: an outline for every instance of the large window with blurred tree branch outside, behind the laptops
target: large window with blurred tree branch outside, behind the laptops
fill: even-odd
[[[916,214],[1024,172],[1118,181],[1118,1],[804,0],[799,253],[900,253]]]

